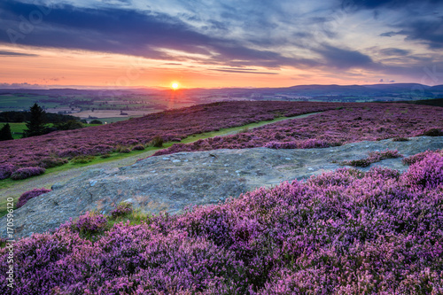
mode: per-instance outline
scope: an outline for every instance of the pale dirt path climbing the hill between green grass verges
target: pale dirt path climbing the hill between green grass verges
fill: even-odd
[[[307,114],[303,114],[303,115],[299,115],[299,116],[290,117],[290,118],[287,118],[284,120],[301,119],[301,118],[306,118],[308,116],[312,116],[314,114],[317,114],[317,113],[307,113]],[[275,121],[265,123],[262,126],[268,125],[268,124],[273,124],[273,123],[275,123]],[[236,134],[236,133],[238,133],[237,130],[236,131],[229,130],[229,131],[226,131],[225,133],[219,134],[218,136],[229,136],[229,135]],[[132,164],[136,163],[137,159],[147,158],[147,157],[151,156],[154,152],[155,151],[146,151],[143,153],[138,153],[137,155],[134,155],[134,156],[128,156],[123,159],[115,159],[115,160],[111,160],[109,162],[105,162],[105,163],[101,163],[101,164],[90,165],[90,166],[86,166],[86,167],[72,168],[72,169],[68,169],[65,171],[49,172],[44,175],[29,178],[24,181],[19,181],[16,184],[14,183],[14,185],[12,187],[0,189],[0,196],[2,196],[2,199],[9,198],[9,197],[18,198],[19,195],[21,195],[23,192],[25,192],[27,190],[33,190],[35,188],[43,188],[43,187],[50,189],[54,183],[67,182],[76,176],[82,175],[82,173],[84,173],[85,171],[88,171],[90,169],[109,170],[109,169],[113,169],[113,168],[117,168],[117,167],[124,167],[124,166],[128,166],[128,165],[132,165]]]

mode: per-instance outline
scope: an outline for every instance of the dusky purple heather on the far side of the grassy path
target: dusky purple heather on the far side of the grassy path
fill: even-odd
[[[130,151],[132,147],[141,150],[143,144],[161,146],[164,142],[180,141],[187,136],[221,128],[238,127],[282,116],[323,112],[337,105],[274,101],[195,105],[113,124],[4,141],[0,143],[0,165],[53,167],[63,164],[50,160],[54,157],[72,159],[77,156],[105,155],[115,151],[118,146],[126,148],[124,151]]]

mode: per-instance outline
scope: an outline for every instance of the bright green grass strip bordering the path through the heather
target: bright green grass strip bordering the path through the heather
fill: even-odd
[[[311,114],[315,114],[315,113],[311,113]],[[224,136],[226,134],[243,132],[245,129],[258,128],[258,127],[261,127],[264,125],[275,123],[280,120],[291,120],[291,119],[295,119],[298,117],[299,116],[280,117],[280,118],[276,118],[274,120],[261,121],[261,122],[247,124],[244,126],[238,126],[238,127],[234,127],[234,128],[222,128],[218,131],[206,132],[206,133],[201,133],[201,134],[194,135],[194,136],[188,136],[188,137],[184,138],[181,141],[181,143],[182,144],[190,144],[190,143],[198,141],[199,139],[206,139],[206,138],[214,137],[214,136]],[[12,124],[25,124],[25,123],[12,123]],[[48,168],[43,175],[38,175],[38,176],[35,176],[32,178],[18,180],[18,181],[13,181],[11,178],[1,180],[0,181],[0,190],[11,188],[12,186],[16,185],[17,183],[27,182],[30,179],[35,179],[37,177],[48,177],[50,175],[56,175],[60,172],[64,172],[64,171],[74,169],[74,168],[88,167],[88,166],[93,166],[93,165],[97,165],[97,164],[104,164],[107,162],[112,162],[112,161],[116,161],[119,159],[125,159],[128,157],[136,157],[138,159],[144,159],[146,157],[151,156],[155,151],[167,149],[168,147],[172,146],[173,144],[176,144],[176,143],[173,143],[173,142],[164,143],[162,147],[146,146],[143,151],[130,151],[128,153],[113,152],[113,153],[108,154],[108,156],[106,156],[105,158],[94,157],[93,159],[88,159],[88,161],[84,161],[84,162],[82,160],[79,161],[79,160],[72,159],[65,165],[62,165],[59,167]],[[46,189],[51,189],[51,184],[48,184],[43,187]],[[16,204],[17,200],[19,199],[19,196],[13,196],[12,198],[14,198],[14,204]],[[6,209],[3,209],[5,207],[6,207],[6,200],[4,198],[2,198],[2,199],[0,199],[0,217],[4,216],[7,213]],[[142,217],[142,215],[143,214],[140,213],[139,218],[141,220],[146,218],[145,216]]]

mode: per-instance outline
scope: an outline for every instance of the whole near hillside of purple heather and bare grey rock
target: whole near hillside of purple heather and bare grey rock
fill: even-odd
[[[197,105],[9,141],[0,152],[4,167],[73,161],[130,151],[159,132],[178,141],[299,113],[310,115],[174,144],[124,167],[91,166],[24,194],[13,211],[15,289],[2,238],[0,293],[443,292],[439,107]]]

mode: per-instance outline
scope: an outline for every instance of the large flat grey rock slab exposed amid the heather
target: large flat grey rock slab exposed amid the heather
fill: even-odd
[[[57,228],[69,218],[98,210],[110,212],[130,201],[144,213],[179,213],[185,206],[215,204],[248,190],[307,178],[340,167],[332,161],[362,159],[369,151],[399,150],[405,156],[443,148],[443,137],[416,137],[408,142],[361,142],[326,149],[218,150],[152,157],[128,167],[90,170],[51,192],[30,199],[14,213],[15,237]],[[401,159],[372,164],[404,171]],[[370,167],[362,168],[368,170]],[[6,237],[6,217],[0,232]]]

